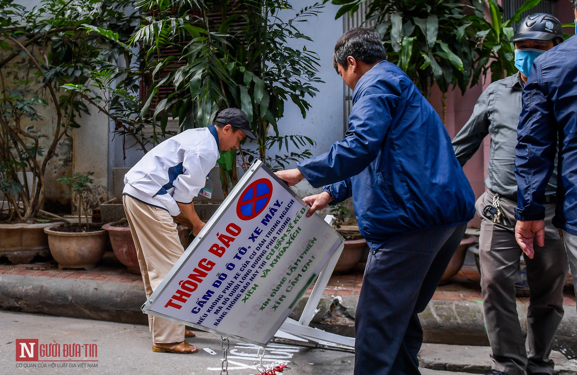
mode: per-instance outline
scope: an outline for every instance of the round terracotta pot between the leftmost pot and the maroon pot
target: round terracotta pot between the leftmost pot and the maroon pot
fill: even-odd
[[[58,268],[93,269],[106,250],[108,233],[104,229],[93,232],[58,232],[54,227],[44,228],[48,235],[50,253],[58,262]]]

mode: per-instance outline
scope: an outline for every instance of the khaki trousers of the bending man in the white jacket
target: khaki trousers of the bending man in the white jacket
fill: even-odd
[[[130,233],[134,239],[140,272],[147,298],[162,282],[174,263],[184,253],[178,238],[177,224],[168,211],[122,196]],[[148,328],[153,343],[184,341],[185,326],[148,315]]]

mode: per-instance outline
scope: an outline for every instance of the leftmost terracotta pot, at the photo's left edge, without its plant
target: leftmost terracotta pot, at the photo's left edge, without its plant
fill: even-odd
[[[60,224],[60,221],[0,224],[0,257],[8,258],[12,264],[30,263],[35,255],[48,257],[48,236],[44,228]]]

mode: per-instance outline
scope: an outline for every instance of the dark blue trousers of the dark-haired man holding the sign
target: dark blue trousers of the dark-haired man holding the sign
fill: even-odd
[[[355,375],[419,374],[417,314],[433,297],[466,227],[410,233],[369,254],[355,314]]]

